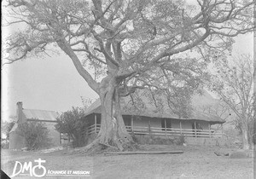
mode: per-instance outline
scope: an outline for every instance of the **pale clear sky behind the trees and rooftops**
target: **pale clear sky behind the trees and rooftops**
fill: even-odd
[[[12,31],[5,28],[2,35]],[[253,34],[236,38],[233,55],[241,53],[253,54]],[[82,107],[81,96],[98,98],[76,71],[73,62],[63,53],[44,58],[34,57],[2,66],[1,76],[3,121],[15,115],[18,101],[22,101],[23,107],[28,109],[65,112],[72,107]]]

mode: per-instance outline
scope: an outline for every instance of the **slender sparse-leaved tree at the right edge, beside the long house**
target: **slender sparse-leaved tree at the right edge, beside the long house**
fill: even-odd
[[[253,91],[253,58],[250,55],[232,57],[216,64],[216,75],[212,76],[211,87],[224,101],[236,118],[236,127],[241,131],[244,149],[253,147],[253,118],[255,91]]]

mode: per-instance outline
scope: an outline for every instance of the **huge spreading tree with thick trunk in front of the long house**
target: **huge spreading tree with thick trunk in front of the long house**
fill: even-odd
[[[7,39],[7,63],[61,49],[102,102],[101,130],[90,147],[120,150],[132,139],[119,97],[146,86],[143,75],[178,76],[179,53],[190,49],[205,63],[253,30],[253,2],[243,0],[9,0],[9,8],[9,25],[24,29]]]

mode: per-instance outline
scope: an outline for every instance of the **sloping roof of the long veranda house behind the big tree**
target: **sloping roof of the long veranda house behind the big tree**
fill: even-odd
[[[183,119],[183,120],[203,120],[212,122],[212,124],[223,124],[224,120],[222,118],[219,118],[216,115],[212,115],[210,113],[205,113],[201,110],[201,106],[204,106],[209,103],[215,103],[217,102],[216,99],[213,99],[211,95],[209,95],[206,91],[204,91],[204,95],[195,95],[195,97],[192,98],[192,106],[194,110],[192,111],[192,114],[189,116],[189,118],[179,118],[177,114],[173,113],[172,110],[168,107],[165,107],[165,109],[162,112],[159,112],[156,110],[154,105],[150,102],[148,102],[148,99],[143,97],[144,105],[143,109],[137,110],[135,107],[132,106],[131,101],[126,97],[121,102],[122,111],[121,113],[123,115],[137,115],[137,116],[144,116],[149,118],[177,118],[177,119]],[[101,101],[100,99],[96,100],[85,112],[85,115],[89,115],[90,113],[102,113],[101,112]]]

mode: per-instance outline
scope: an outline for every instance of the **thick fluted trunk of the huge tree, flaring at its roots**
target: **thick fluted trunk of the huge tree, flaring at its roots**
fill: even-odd
[[[90,147],[96,144],[115,147],[120,151],[134,149],[134,142],[125,129],[120,112],[119,85],[115,78],[105,78],[100,86],[102,103],[101,130]]]

